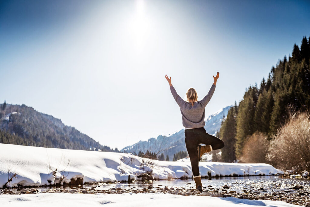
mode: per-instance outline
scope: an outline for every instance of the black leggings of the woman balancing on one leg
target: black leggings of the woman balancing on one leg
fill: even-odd
[[[221,139],[208,134],[206,129],[203,127],[185,129],[185,146],[189,155],[189,159],[191,160],[193,176],[199,175],[199,144],[211,145],[212,150],[218,150],[224,147],[224,142]]]

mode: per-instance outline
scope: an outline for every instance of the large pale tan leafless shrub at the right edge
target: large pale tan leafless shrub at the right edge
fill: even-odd
[[[309,113],[290,115],[270,142],[267,159],[279,169],[310,170]]]

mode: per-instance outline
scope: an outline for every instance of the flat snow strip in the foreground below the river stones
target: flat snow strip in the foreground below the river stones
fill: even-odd
[[[25,202],[26,201],[26,202]],[[215,198],[210,196],[180,196],[164,193],[123,193],[123,194],[69,194],[43,193],[29,195],[2,195],[0,203],[3,206],[23,207],[55,207],[55,206],[277,206],[293,207],[297,205],[273,200],[247,200],[234,197]]]

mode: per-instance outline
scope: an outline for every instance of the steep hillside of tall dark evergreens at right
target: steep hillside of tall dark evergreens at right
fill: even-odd
[[[247,88],[239,105],[230,108],[219,132],[219,137],[229,143],[222,149],[222,161],[242,160],[250,151],[245,148],[251,148],[264,155],[257,160],[263,162],[270,140],[290,115],[309,112],[309,45],[310,37],[303,38],[300,48],[294,44],[292,55],[279,60],[267,80],[263,78],[259,86]]]

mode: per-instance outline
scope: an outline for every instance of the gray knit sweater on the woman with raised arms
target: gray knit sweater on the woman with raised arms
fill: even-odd
[[[203,127],[205,124],[205,107],[210,101],[215,90],[215,85],[212,84],[208,94],[201,99],[201,101],[192,103],[184,101],[175,91],[173,86],[170,86],[170,91],[175,101],[180,107],[182,114],[182,124],[185,128],[199,128]]]

